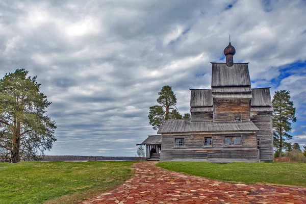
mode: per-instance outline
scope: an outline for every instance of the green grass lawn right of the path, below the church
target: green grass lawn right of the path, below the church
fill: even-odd
[[[306,163],[160,162],[157,166],[171,171],[235,183],[306,186]]]

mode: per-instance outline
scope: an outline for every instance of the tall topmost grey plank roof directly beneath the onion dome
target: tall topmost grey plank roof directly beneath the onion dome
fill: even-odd
[[[251,86],[248,63],[212,63],[212,87]]]

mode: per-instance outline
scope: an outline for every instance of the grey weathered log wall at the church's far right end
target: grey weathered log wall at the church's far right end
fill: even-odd
[[[251,113],[251,121],[258,127],[257,138],[261,139],[259,147],[260,161],[273,161],[272,116],[270,112]]]

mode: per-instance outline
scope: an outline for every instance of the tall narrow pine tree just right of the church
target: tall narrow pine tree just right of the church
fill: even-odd
[[[278,152],[282,152],[284,147],[288,146],[286,140],[292,139],[289,134],[291,130],[291,122],[295,122],[295,108],[293,102],[290,101],[290,92],[286,90],[275,91],[272,100],[273,106],[273,138],[274,147]],[[282,154],[278,156],[282,161]]]

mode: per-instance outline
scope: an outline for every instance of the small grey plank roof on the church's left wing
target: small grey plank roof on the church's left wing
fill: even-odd
[[[211,89],[190,89],[190,107],[212,107],[213,97]]]

